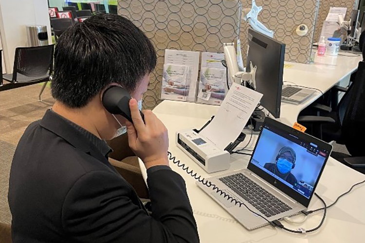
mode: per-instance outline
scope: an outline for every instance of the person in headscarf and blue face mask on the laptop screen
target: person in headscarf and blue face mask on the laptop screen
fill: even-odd
[[[295,186],[297,180],[291,173],[295,167],[295,159],[295,151],[291,147],[282,147],[276,156],[275,163],[266,163],[264,168]]]

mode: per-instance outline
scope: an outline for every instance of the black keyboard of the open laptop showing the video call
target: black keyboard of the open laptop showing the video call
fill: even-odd
[[[241,173],[221,177],[219,180],[266,217],[271,217],[292,209]]]

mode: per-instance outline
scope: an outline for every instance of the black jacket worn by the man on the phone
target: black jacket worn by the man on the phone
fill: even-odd
[[[152,216],[107,156],[47,111],[26,129],[13,158],[13,242],[199,242],[183,178],[166,169],[147,175]]]

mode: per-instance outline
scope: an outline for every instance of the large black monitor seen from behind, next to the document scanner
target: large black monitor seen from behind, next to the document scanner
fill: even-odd
[[[256,91],[263,94],[260,104],[275,118],[280,117],[285,44],[253,29],[248,31],[246,71],[256,69]]]

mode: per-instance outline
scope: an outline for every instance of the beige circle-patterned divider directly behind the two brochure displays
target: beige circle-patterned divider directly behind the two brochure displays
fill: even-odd
[[[144,108],[161,103],[165,49],[223,52],[223,43],[237,40],[240,13],[239,0],[118,0],[118,15],[143,30],[157,52]]]

